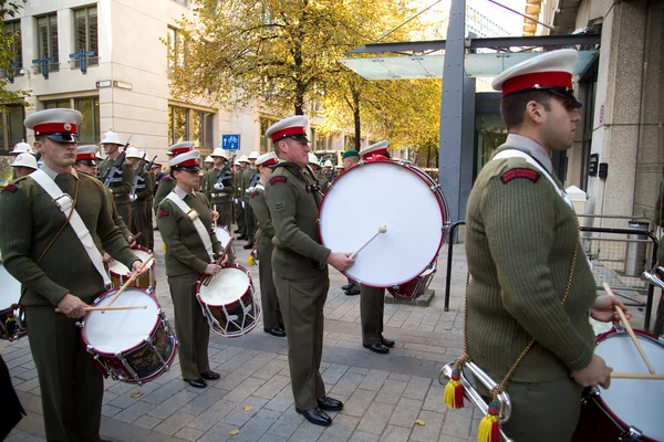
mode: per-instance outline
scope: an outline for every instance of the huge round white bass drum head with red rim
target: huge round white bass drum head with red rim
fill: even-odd
[[[432,185],[393,161],[355,166],[334,181],[320,212],[321,241],[326,248],[353,253],[380,225],[387,228],[355,256],[347,276],[390,287],[421,275],[436,259],[445,217],[442,194],[433,192]]]

